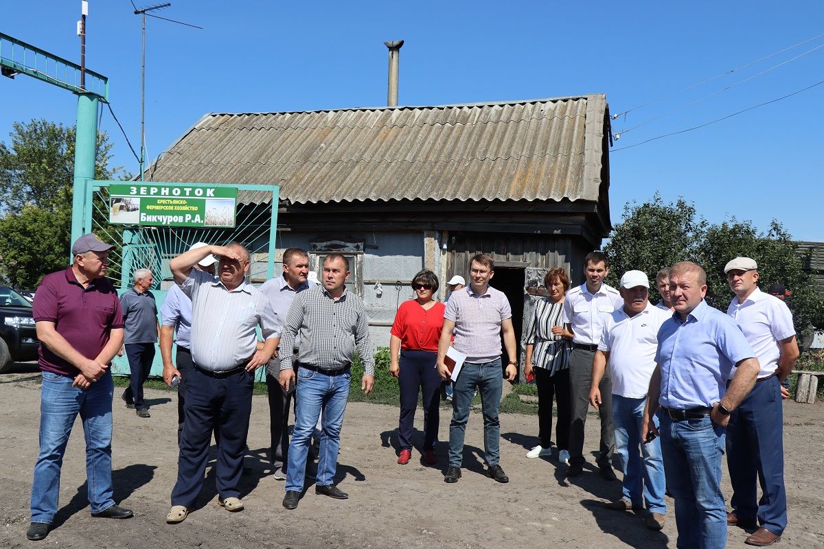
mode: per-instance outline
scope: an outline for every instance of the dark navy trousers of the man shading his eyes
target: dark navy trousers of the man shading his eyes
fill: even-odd
[[[215,471],[218,495],[222,500],[241,495],[237,484],[246,454],[253,380],[254,375],[244,370],[212,376],[193,367],[187,373],[185,421],[171,505],[194,507],[203,487],[209,443],[215,429],[220,433]]]

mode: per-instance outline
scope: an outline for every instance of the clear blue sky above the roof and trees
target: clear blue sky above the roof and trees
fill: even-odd
[[[151,3],[137,2],[138,7]],[[137,146],[140,19],[129,0],[90,0],[87,66],[110,78],[115,114]],[[2,32],[79,62],[80,0],[2,0]],[[442,105],[603,92],[620,113],[824,33],[824,2],[216,2],[172,0],[147,20],[147,149],[153,159],[208,112],[386,103],[385,40],[400,51],[400,104]],[[632,128],[824,44],[824,37],[627,114]],[[635,128],[626,147],[824,80],[824,48]],[[76,99],[41,81],[0,78],[0,138],[12,122],[73,123]],[[611,153],[611,213],[656,191],[709,221],[773,217],[824,240],[824,85],[690,133]],[[115,165],[137,161],[106,111]]]

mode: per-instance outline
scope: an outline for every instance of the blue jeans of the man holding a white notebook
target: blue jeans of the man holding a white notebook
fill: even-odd
[[[461,373],[455,381],[452,393],[452,422],[449,424],[449,465],[461,467],[463,443],[466,435],[466,421],[475,387],[480,393],[481,408],[484,412],[484,452],[489,467],[498,465],[500,460],[501,424],[498,412],[501,407],[503,371],[501,359],[476,364],[464,362]]]

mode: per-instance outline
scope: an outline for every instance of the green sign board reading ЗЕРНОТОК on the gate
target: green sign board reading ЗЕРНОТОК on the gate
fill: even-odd
[[[135,181],[109,187],[117,225],[234,227],[237,188]]]

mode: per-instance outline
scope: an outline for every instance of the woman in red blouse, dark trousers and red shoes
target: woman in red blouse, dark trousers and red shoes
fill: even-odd
[[[405,465],[412,457],[412,424],[418,407],[418,391],[424,393],[424,462],[434,465],[435,442],[438,440],[438,406],[441,376],[435,367],[438,339],[443,328],[444,305],[433,299],[438,291],[438,277],[424,269],[412,279],[414,300],[398,307],[392,324],[389,373],[400,385],[400,421],[398,463]]]

